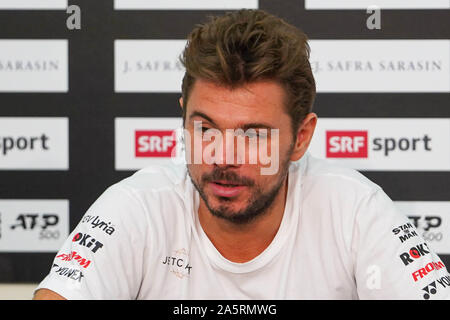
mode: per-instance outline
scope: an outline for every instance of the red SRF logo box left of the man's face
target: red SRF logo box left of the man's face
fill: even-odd
[[[170,158],[176,147],[175,130],[152,130],[135,132],[135,155],[140,158]],[[175,156],[175,153],[173,154]]]

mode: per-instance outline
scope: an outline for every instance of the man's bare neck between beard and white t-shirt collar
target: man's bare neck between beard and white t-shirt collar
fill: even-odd
[[[270,245],[283,219],[287,184],[286,178],[266,212],[244,225],[213,216],[200,198],[200,224],[222,256],[232,262],[243,263],[257,257]]]

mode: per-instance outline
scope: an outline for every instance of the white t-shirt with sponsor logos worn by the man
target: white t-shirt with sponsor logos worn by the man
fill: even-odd
[[[197,218],[185,166],[108,188],[39,288],[67,299],[437,299],[450,276],[383,190],[305,155],[291,163],[280,228],[259,256],[224,258]],[[243,244],[245,245],[245,244]]]

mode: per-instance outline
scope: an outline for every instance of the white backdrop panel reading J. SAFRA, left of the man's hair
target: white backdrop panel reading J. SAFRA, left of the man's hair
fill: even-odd
[[[181,92],[185,40],[116,40],[116,92]]]

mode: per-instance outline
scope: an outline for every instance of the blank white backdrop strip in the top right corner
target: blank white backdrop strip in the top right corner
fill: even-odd
[[[305,0],[306,9],[448,9],[448,0]]]

